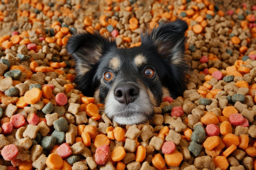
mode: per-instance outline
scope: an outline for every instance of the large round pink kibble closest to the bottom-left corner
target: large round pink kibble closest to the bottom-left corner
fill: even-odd
[[[16,158],[19,153],[19,150],[16,145],[9,144],[4,146],[1,151],[1,155],[5,161],[11,161],[12,159]]]

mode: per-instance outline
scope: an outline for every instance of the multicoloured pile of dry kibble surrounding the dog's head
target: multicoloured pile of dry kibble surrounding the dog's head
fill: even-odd
[[[177,18],[189,24],[183,96],[120,126],[76,88],[72,33],[120,48]],[[0,170],[256,169],[253,0],[2,0]]]

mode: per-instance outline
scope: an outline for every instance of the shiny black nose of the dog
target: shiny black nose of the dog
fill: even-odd
[[[139,88],[133,83],[121,83],[114,90],[115,99],[124,104],[135,101],[139,95]]]

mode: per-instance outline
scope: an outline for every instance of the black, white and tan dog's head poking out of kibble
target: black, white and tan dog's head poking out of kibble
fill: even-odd
[[[141,45],[122,49],[99,33],[72,35],[67,51],[76,62],[75,82],[85,96],[105,104],[121,125],[145,123],[163,97],[186,89],[190,67],[184,59],[186,22],[159,24],[141,34]]]

